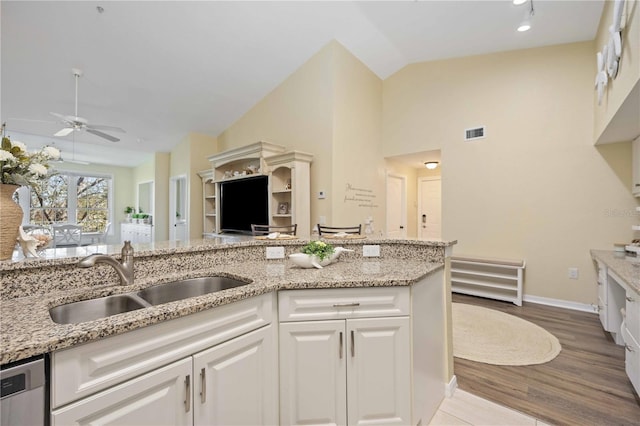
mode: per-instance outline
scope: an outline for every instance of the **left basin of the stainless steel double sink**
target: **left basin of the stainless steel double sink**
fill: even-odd
[[[150,306],[135,295],[114,294],[97,299],[67,303],[49,310],[51,319],[58,324],[76,324],[131,312]]]

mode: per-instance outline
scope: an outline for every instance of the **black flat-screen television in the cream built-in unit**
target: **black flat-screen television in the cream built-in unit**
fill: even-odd
[[[220,231],[251,234],[251,224],[269,224],[269,177],[220,183]]]

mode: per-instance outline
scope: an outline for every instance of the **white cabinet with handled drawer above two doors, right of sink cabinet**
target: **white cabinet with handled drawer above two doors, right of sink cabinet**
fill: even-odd
[[[281,292],[282,424],[411,424],[409,289],[362,290]]]

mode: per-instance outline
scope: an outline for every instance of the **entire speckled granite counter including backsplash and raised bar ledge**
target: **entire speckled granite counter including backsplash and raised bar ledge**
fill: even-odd
[[[247,241],[229,244],[195,240],[135,246],[135,283],[118,282],[113,268],[99,264],[77,268],[78,256],[0,262],[0,364],[178,318],[248,297],[282,289],[411,285],[445,265],[451,242],[413,240],[331,241],[355,249],[323,269],[300,269],[287,259],[264,260],[265,246],[284,246],[295,253],[307,241]],[[379,244],[380,258],[363,258],[362,244]],[[81,248],[81,250],[84,248]],[[120,246],[102,246],[118,253]],[[94,252],[95,252],[94,251]],[[71,256],[71,257],[69,257]],[[225,275],[250,282],[242,287],[153,306],[79,324],[56,324],[49,308],[78,300],[128,293],[161,282]]]

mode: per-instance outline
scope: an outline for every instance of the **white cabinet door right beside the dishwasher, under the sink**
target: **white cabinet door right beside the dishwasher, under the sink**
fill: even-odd
[[[192,425],[191,380],[189,357],[55,410],[51,424]]]

